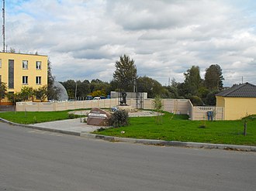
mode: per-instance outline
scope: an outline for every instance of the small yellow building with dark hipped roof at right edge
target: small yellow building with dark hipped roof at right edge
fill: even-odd
[[[256,86],[245,83],[216,94],[216,107],[224,107],[224,120],[256,114]]]

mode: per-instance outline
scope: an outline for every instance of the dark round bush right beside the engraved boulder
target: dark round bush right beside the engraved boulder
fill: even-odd
[[[119,128],[119,127],[128,125],[129,124],[128,112],[125,110],[115,111],[111,116],[110,124],[112,124],[114,128]]]

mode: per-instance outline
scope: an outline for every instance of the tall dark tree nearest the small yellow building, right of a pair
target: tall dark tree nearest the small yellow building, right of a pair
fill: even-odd
[[[222,90],[223,80],[222,70],[218,64],[206,69],[205,85],[209,90]]]

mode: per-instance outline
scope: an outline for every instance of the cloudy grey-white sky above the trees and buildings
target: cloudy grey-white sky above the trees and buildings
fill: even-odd
[[[49,56],[58,81],[110,81],[127,54],[162,85],[212,64],[226,87],[256,85],[255,21],[254,0],[7,0],[5,45]]]

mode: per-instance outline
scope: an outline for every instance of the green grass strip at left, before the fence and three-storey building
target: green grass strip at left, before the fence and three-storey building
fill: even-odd
[[[19,124],[36,124],[47,121],[59,121],[69,118],[79,118],[81,116],[68,114],[68,111],[10,111],[0,113],[0,118],[12,121]]]

